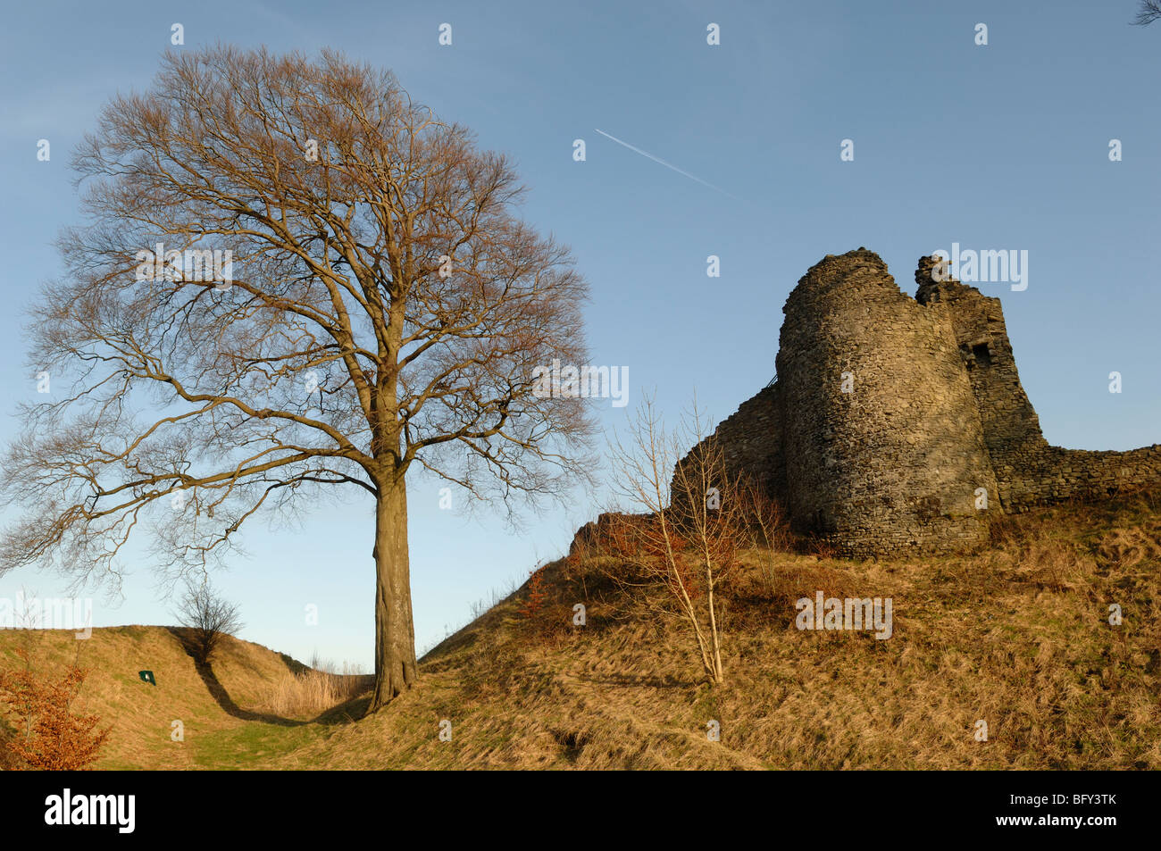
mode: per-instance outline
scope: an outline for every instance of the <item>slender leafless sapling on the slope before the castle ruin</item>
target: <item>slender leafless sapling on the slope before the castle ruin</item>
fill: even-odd
[[[720,446],[704,440],[708,419],[694,403],[666,430],[654,401],[639,408],[626,440],[612,441],[614,477],[640,515],[621,515],[614,550],[661,582],[690,628],[709,681],[724,679],[716,592],[751,542],[747,486],[727,473]],[[690,446],[698,448],[683,461]]]

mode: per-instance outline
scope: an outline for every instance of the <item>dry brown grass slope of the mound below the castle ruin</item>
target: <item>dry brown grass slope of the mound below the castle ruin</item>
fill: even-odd
[[[410,743],[377,753],[385,764],[1161,769],[1155,506],[1141,497],[1003,518],[994,548],[954,558],[748,553],[723,587],[722,687],[690,675],[687,642],[648,589],[622,594],[607,580],[615,560],[557,563],[555,600],[586,601],[585,628],[561,620],[540,650],[500,606],[427,658],[430,692],[325,750],[368,767],[339,740],[403,726]],[[816,590],[892,597],[893,637],[796,630],[793,601]],[[434,738],[442,716],[454,742]],[[719,743],[706,738],[711,719]],[[978,720],[987,742],[975,741]]]

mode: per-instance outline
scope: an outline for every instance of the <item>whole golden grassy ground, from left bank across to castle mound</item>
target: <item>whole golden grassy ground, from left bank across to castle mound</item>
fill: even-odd
[[[1000,518],[994,547],[965,557],[747,553],[722,586],[720,687],[701,681],[682,623],[658,614],[661,592],[614,582],[608,558],[548,565],[540,614],[524,614],[521,589],[437,646],[420,684],[369,717],[354,679],[348,692],[363,693],[326,712],[273,711],[280,684],[309,671],[248,642],[225,642],[199,672],[164,627],[31,639],[49,665],[84,646],[84,708],[113,726],[104,769],[1156,770],[1159,507],[1146,495]],[[817,590],[892,597],[893,636],[796,629],[794,600]],[[29,637],[0,632],[0,664]]]

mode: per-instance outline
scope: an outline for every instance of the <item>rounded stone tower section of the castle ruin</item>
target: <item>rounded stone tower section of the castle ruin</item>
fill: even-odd
[[[786,509],[848,555],[969,549],[995,490],[951,317],[870,251],[828,255],[784,308]]]

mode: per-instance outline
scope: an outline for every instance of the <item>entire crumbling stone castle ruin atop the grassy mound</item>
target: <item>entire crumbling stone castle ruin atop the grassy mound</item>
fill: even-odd
[[[878,254],[828,254],[786,300],[778,377],[722,421],[730,474],[846,556],[959,551],[989,512],[1161,483],[1161,445],[1048,446],[1000,300],[931,274],[915,298]]]

